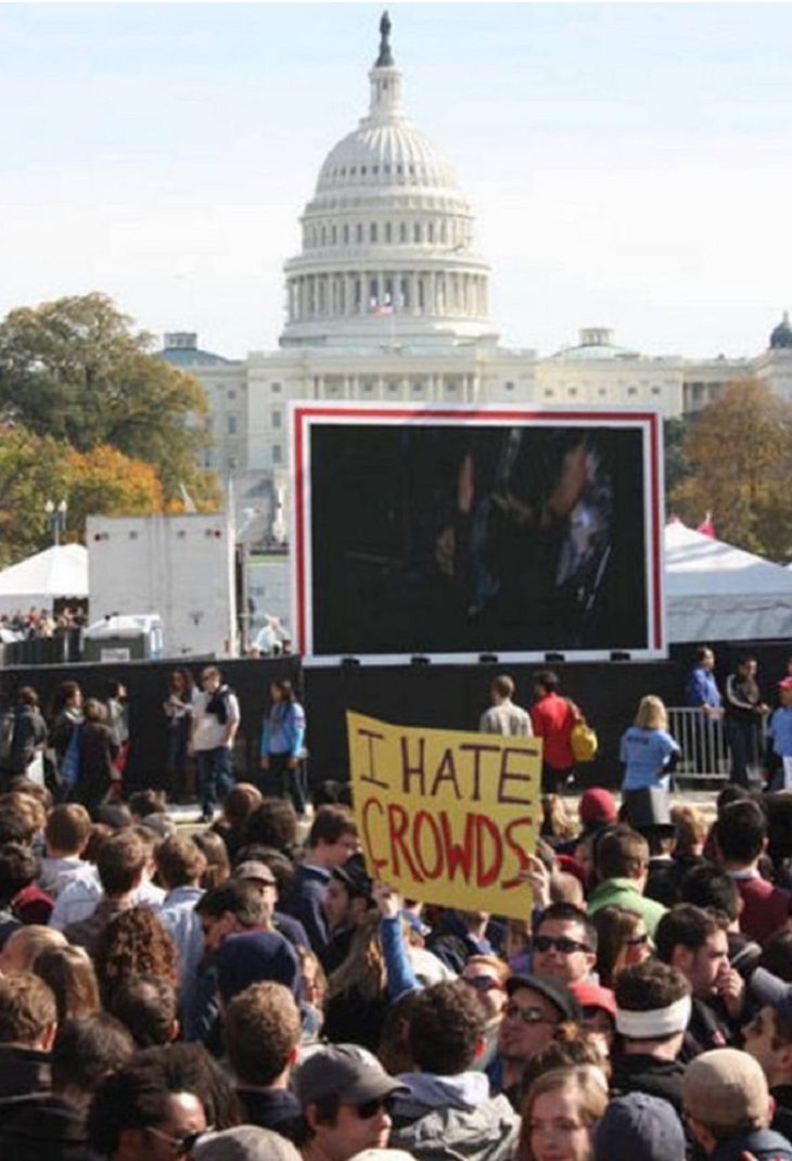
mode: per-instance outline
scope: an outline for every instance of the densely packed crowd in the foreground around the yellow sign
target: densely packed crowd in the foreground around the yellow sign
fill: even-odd
[[[88,810],[17,776],[0,1158],[792,1161],[769,801],[729,785],[708,823],[656,787],[545,795],[506,920],[372,881],[346,785],[300,843],[252,784],[188,834],[161,791]]]

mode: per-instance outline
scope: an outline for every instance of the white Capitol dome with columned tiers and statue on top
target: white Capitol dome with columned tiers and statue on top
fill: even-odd
[[[489,266],[453,167],[402,103],[380,22],[368,116],[327,154],[286,262],[282,347],[495,342]]]

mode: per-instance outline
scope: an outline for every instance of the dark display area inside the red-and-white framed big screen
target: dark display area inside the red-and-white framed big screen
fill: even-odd
[[[312,652],[648,648],[642,437],[314,423]]]

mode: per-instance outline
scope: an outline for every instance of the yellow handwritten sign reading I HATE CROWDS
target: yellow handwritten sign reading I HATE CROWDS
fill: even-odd
[[[369,874],[409,899],[527,920],[519,873],[541,822],[541,741],[346,722]]]

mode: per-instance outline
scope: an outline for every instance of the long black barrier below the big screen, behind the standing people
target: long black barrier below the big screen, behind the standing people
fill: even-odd
[[[708,644],[718,659],[717,676],[722,688],[726,675],[737,658],[750,654],[759,665],[759,684],[772,706],[775,684],[786,675],[792,655],[789,641],[718,642]],[[310,753],[309,779],[348,777],[346,747],[347,709],[406,726],[439,729],[473,729],[488,706],[492,678],[507,672],[514,679],[516,700],[527,705],[531,675],[541,668],[557,672],[562,693],[583,709],[599,736],[595,762],[578,766],[578,786],[619,784],[619,738],[631,724],[640,699],[655,693],[669,706],[684,705],[685,678],[693,664],[694,646],[671,647],[670,658],[633,663],[531,663],[526,665],[433,665],[403,666],[341,665],[303,668],[298,657],[244,658],[221,661],[224,679],[239,697],[242,728],[235,753],[238,779],[252,778],[258,770],[261,719],[268,706],[267,688],[276,678],[295,685],[308,716],[307,743]],[[103,698],[109,680],[123,683],[129,691],[130,747],[128,787],[163,784],[167,735],[163,701],[171,671],[186,665],[195,676],[203,664],[215,662],[192,658],[139,661],[120,664],[33,665],[0,670],[0,695],[9,698],[21,685],[33,685],[46,709],[56,688],[66,679],[79,682],[86,697]]]

